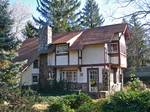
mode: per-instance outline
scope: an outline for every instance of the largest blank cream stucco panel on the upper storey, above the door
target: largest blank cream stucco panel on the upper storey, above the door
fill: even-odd
[[[104,45],[88,45],[82,52],[83,64],[104,63]]]

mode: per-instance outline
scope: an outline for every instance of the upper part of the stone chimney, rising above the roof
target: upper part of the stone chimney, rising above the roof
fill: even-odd
[[[48,25],[43,26],[39,32],[39,52],[45,53],[48,48],[48,44],[52,43],[52,28]]]

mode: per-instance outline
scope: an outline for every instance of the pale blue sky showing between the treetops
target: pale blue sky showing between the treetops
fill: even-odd
[[[85,1],[86,0],[81,0],[81,8],[84,6]],[[135,10],[134,6],[120,8],[120,4],[115,1],[116,0],[96,0],[100,8],[100,14],[102,14],[105,18],[104,25],[120,23],[122,21],[121,19],[114,19],[113,17],[120,17]],[[27,7],[27,10],[30,10],[33,16],[40,16],[36,11],[36,0],[10,0],[10,5],[13,6],[16,2]]]

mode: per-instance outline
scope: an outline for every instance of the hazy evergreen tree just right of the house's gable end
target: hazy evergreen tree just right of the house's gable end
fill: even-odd
[[[145,66],[149,62],[149,48],[145,44],[145,39],[148,38],[145,29],[133,15],[130,19],[132,37],[128,41],[128,66],[140,67]]]

